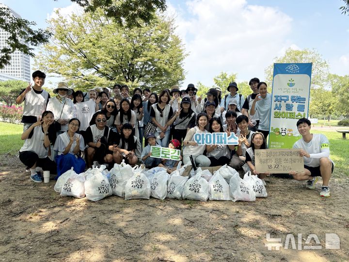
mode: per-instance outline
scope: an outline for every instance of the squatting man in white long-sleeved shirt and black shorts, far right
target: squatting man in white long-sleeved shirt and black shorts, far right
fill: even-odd
[[[306,187],[315,188],[317,177],[322,177],[322,187],[320,197],[330,197],[328,186],[333,172],[333,161],[330,159],[330,142],[323,134],[311,134],[311,122],[306,118],[301,118],[297,122],[298,132],[302,138],[298,140],[293,148],[301,149],[301,156],[304,159],[304,172],[296,173],[291,170],[290,175],[295,180],[307,181]]]

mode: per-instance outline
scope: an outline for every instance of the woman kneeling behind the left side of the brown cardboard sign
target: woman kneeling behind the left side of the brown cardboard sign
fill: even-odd
[[[239,143],[241,143],[239,141]],[[263,184],[266,185],[264,178],[267,175],[270,175],[269,172],[265,173],[259,173],[257,170],[255,170],[255,161],[254,161],[254,149],[265,149],[266,143],[264,140],[263,133],[255,132],[252,135],[252,145],[251,147],[247,148],[246,150],[246,164],[242,166],[245,172],[251,171],[252,175],[258,175],[258,177],[263,181]]]

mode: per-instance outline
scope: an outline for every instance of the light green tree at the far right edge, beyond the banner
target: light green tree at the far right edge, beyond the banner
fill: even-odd
[[[349,116],[349,75],[330,74],[329,81],[332,87],[332,96],[336,99],[336,112]]]

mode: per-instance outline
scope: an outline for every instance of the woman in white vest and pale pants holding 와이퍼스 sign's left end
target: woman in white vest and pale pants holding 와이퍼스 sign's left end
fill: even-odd
[[[211,161],[204,154],[205,145],[198,145],[194,140],[194,134],[207,133],[205,129],[208,122],[206,113],[200,113],[196,117],[196,127],[191,128],[183,141],[183,164],[191,164],[190,155],[197,166],[210,166]]]

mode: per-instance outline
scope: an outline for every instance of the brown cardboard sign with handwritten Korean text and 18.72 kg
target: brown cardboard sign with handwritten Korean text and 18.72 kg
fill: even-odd
[[[293,170],[304,171],[300,149],[255,149],[255,168],[259,173],[288,174]]]

